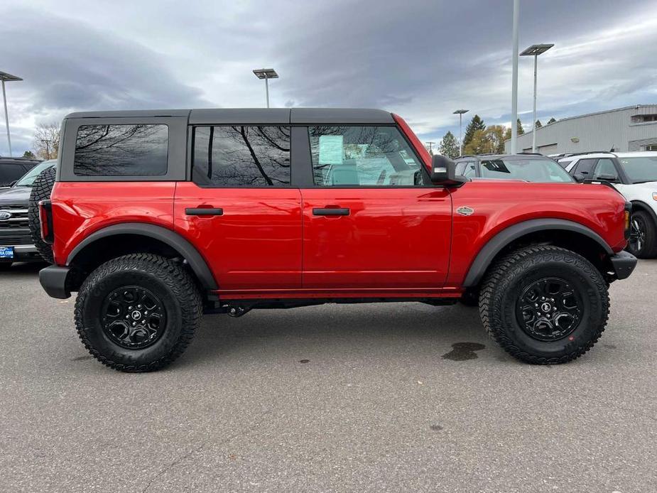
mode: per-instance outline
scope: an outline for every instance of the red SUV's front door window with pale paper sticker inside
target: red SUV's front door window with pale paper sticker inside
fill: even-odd
[[[315,185],[408,187],[429,183],[415,153],[393,126],[310,126]]]

